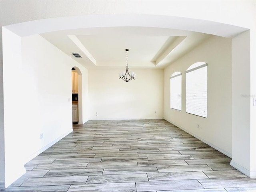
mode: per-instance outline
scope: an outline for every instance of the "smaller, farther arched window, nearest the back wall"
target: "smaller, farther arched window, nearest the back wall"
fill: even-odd
[[[170,77],[170,108],[181,111],[181,73],[175,72]]]

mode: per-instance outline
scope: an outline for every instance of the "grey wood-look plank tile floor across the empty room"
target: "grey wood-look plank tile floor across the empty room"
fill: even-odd
[[[165,120],[88,121],[1,192],[256,192],[230,158]]]

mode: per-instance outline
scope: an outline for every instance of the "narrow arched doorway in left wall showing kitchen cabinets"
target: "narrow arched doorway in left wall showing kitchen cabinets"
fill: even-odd
[[[72,122],[82,124],[82,73],[78,67],[71,69],[72,73]]]

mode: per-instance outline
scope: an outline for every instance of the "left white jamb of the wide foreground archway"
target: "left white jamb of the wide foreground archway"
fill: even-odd
[[[21,150],[24,147],[22,138],[22,128],[24,127],[22,115],[24,113],[22,108],[18,107],[23,105],[24,92],[20,78],[22,70],[21,38],[4,28],[2,33],[5,37],[3,38],[3,90],[4,109],[6,109],[4,110],[4,168],[5,186],[8,186],[25,172]]]

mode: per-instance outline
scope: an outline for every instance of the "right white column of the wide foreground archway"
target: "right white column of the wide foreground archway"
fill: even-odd
[[[255,115],[251,78],[250,30],[232,39],[232,161],[231,165],[249,177],[255,170]]]

